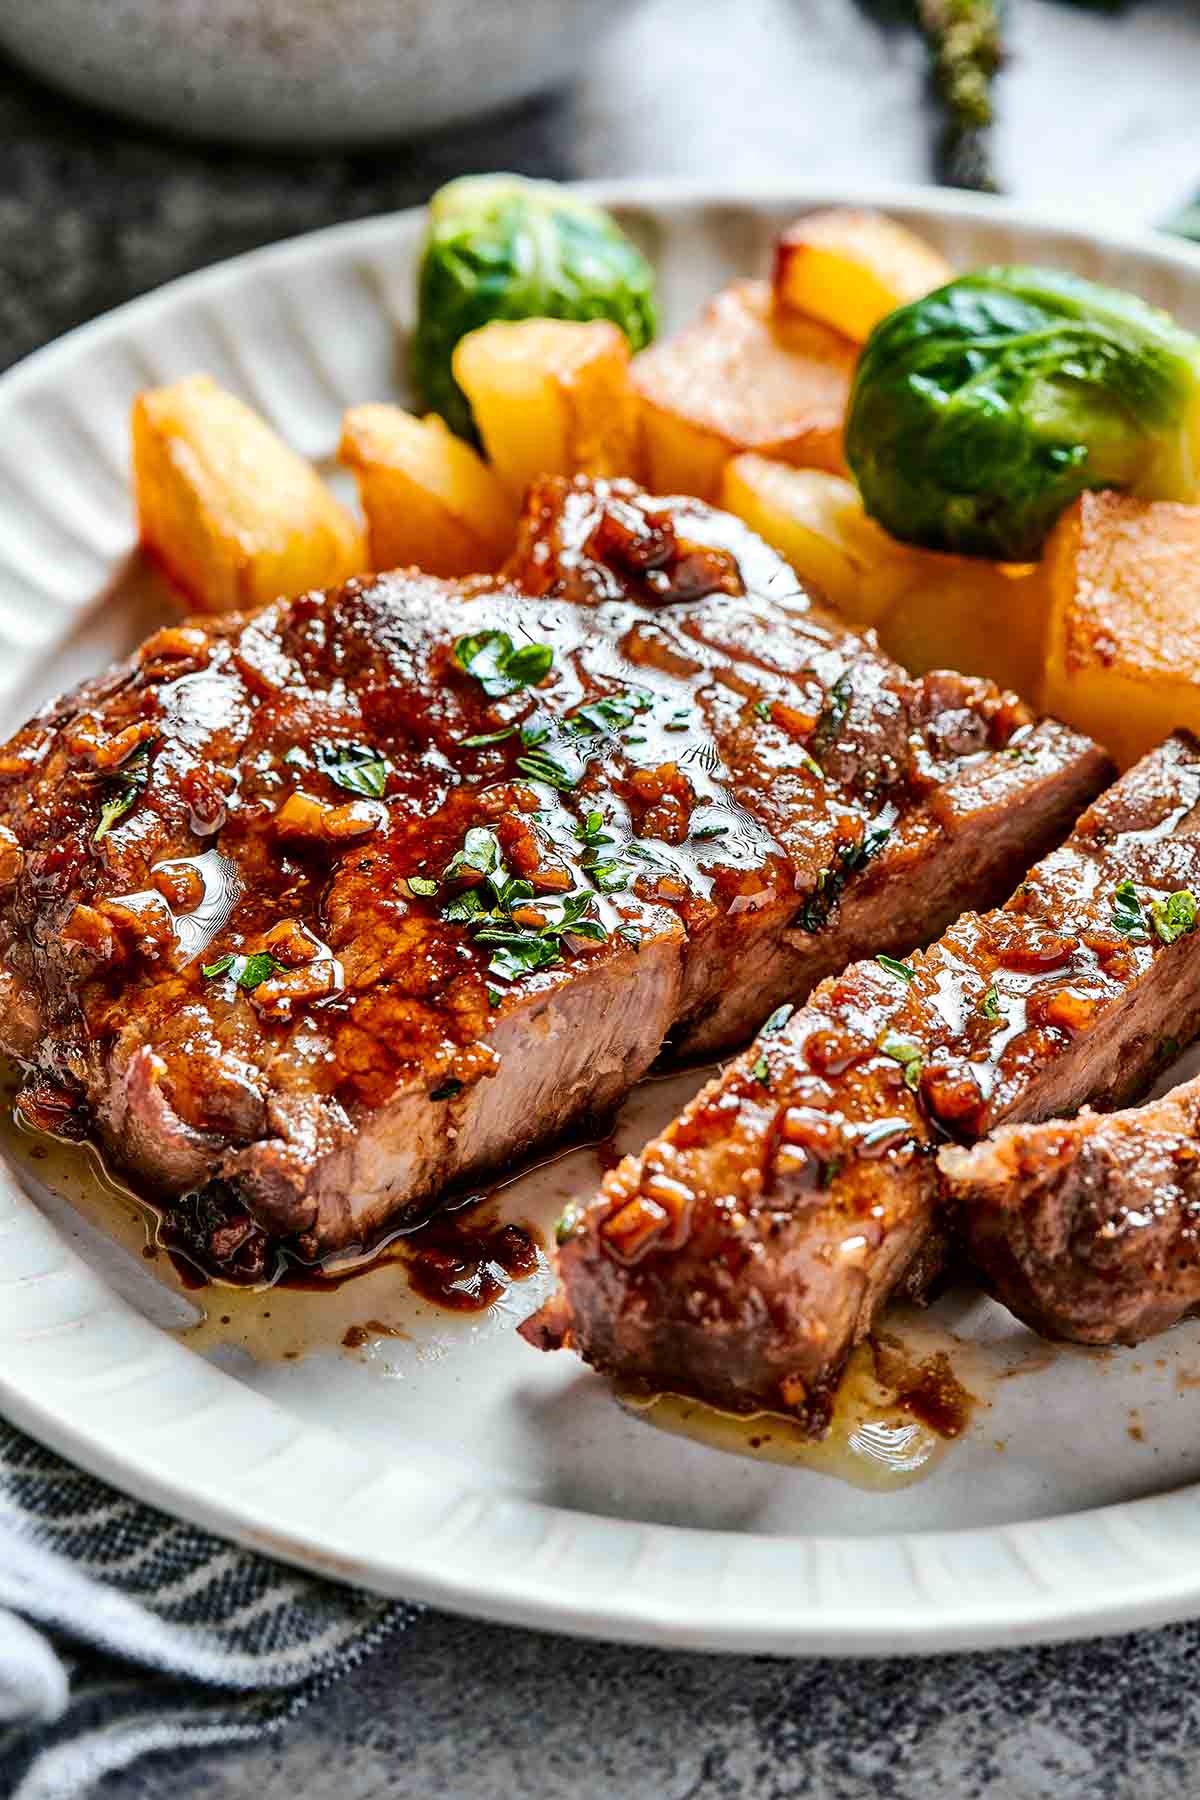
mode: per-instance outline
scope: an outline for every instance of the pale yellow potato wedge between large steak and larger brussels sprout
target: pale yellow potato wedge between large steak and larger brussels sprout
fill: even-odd
[[[718,504],[856,625],[874,625],[912,580],[910,554],[867,518],[844,475],[747,452],[725,464]]]

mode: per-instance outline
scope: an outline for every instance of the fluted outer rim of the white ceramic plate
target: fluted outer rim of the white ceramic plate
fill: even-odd
[[[867,205],[898,214],[993,220],[1015,232],[1054,232],[1079,248],[1133,256],[1184,272],[1200,290],[1200,245],[1155,230],[1103,229],[1067,209],[1036,209],[993,196],[914,184],[673,180],[572,184],[612,207],[649,214],[689,207]],[[349,220],[243,252],[182,275],[99,315],[0,374],[0,410],[38,383],[54,382],[72,358],[119,333],[137,333],[155,313],[227,286],[275,274],[293,261],[378,252],[412,243],[421,207]],[[660,1647],[774,1654],[934,1654],[1130,1631],[1200,1613],[1200,1481],[1162,1494],[1074,1514],[1000,1526],[892,1532],[880,1537],[756,1535],[606,1517],[542,1501],[488,1494],[480,1483],[435,1489],[381,1453],[347,1447],[331,1427],[297,1420],[167,1337],[113,1296],[58,1235],[7,1165],[0,1166],[0,1242],[16,1251],[18,1273],[0,1264],[0,1408],[16,1426],[92,1474],[223,1537],[315,1573],[380,1593],[425,1600],[504,1624]],[[7,1256],[5,1256],[7,1260]],[[29,1323],[29,1314],[36,1325]],[[25,1323],[22,1325],[22,1318]],[[92,1418],[92,1341],[104,1334],[128,1352],[112,1364],[131,1373],[112,1388],[128,1415],[126,1438],[112,1444]],[[72,1370],[76,1384],[47,1379],[43,1350]],[[103,1372],[101,1372],[103,1373]],[[79,1386],[83,1381],[83,1386]],[[155,1417],[160,1390],[185,1402]],[[108,1390],[106,1390],[108,1391]],[[124,1400],[121,1399],[124,1395]],[[139,1399],[140,1397],[140,1399]],[[160,1395],[162,1397],[162,1395]],[[130,1406],[133,1404],[133,1413]],[[139,1417],[139,1406],[149,1406]],[[191,1411],[189,1411],[191,1408]],[[196,1465],[189,1426],[207,1417],[219,1449],[241,1445],[246,1460],[221,1480]],[[336,1453],[336,1454],[335,1454]],[[288,1458],[326,1467],[317,1490],[288,1503],[257,1492],[266,1476],[279,1489]],[[218,1458],[219,1460],[219,1458]],[[333,1463],[336,1462],[336,1471]],[[272,1474],[273,1471],[273,1474]],[[255,1498],[257,1496],[257,1498]],[[371,1505],[365,1505],[371,1496]],[[387,1519],[380,1519],[380,1508]],[[394,1508],[394,1510],[392,1510]],[[502,1517],[500,1517],[502,1516]],[[405,1528],[419,1519],[414,1543]],[[497,1535],[497,1521],[500,1530]],[[387,1525],[387,1530],[381,1526]],[[489,1535],[491,1534],[491,1535]],[[398,1550],[398,1539],[405,1548]],[[1187,1557],[1187,1543],[1196,1550]],[[520,1575],[498,1570],[484,1550],[520,1546]],[[999,1575],[972,1591],[964,1561],[981,1552]],[[518,1559],[518,1561],[520,1561]],[[997,1561],[999,1559],[999,1561]],[[847,1604],[862,1589],[856,1564],[874,1564],[903,1588],[903,1606]],[[480,1564],[488,1575],[480,1573]],[[563,1568],[572,1577],[563,1577]],[[696,1604],[696,1573],[709,1598]],[[1096,1579],[1096,1570],[1105,1579]],[[621,1575],[635,1577],[622,1580]],[[781,1577],[786,1573],[786,1598]],[[838,1577],[838,1579],[833,1579]],[[754,1595],[763,1593],[763,1604]]]

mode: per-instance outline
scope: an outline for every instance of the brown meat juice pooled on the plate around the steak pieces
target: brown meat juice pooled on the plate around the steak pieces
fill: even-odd
[[[551,1237],[563,1201],[587,1193],[624,1148],[640,1141],[648,1107],[669,1116],[680,1089],[707,1073],[655,1076],[642,1084],[612,1136],[565,1147],[479,1202],[441,1211],[371,1256],[327,1273],[293,1264],[270,1287],[205,1282],[194,1264],[164,1244],[162,1211],[113,1177],[92,1145],[34,1132],[7,1103],[4,1150],[185,1301],[189,1312],[175,1328],[191,1348],[207,1354],[236,1346],[259,1363],[342,1352],[387,1366],[387,1343],[421,1337],[430,1309],[443,1316],[488,1312],[515,1327],[549,1283],[540,1244]],[[13,1073],[5,1102],[14,1087]],[[712,1449],[811,1469],[855,1487],[909,1487],[936,1471],[975,1408],[986,1406],[981,1397],[995,1372],[986,1355],[927,1318],[891,1323],[903,1341],[873,1341],[855,1354],[831,1431],[817,1444],[779,1415],[739,1418],[676,1395],[626,1391],[621,1400],[657,1429]]]

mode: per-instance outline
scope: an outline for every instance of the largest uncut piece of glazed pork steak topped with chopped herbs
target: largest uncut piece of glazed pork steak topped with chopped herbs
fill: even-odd
[[[907,677],[696,502],[556,484],[507,581],[160,632],[0,751],[0,1033],[212,1256],[317,1256],[745,1040],[1060,835],[1101,752]],[[210,1186],[210,1183],[218,1183]]]

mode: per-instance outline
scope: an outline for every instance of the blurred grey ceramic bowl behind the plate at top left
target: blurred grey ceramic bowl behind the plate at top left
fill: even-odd
[[[363,144],[565,79],[631,0],[0,0],[0,43],[189,135]]]

